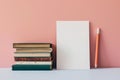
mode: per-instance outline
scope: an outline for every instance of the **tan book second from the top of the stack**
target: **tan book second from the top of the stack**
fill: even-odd
[[[16,48],[16,52],[52,52],[52,48]]]

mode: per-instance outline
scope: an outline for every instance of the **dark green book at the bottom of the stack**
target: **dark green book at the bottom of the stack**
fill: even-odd
[[[52,65],[12,65],[12,70],[52,70]]]

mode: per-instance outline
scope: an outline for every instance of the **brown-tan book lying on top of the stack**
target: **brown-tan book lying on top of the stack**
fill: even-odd
[[[13,43],[13,48],[52,47],[51,43]]]

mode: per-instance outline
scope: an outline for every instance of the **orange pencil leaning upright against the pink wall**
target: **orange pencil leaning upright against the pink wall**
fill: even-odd
[[[99,49],[100,28],[97,28],[96,48],[95,48],[95,68],[98,67],[98,49]]]

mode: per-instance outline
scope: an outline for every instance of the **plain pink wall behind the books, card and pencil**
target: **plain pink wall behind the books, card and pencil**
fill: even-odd
[[[89,20],[91,67],[100,27],[99,67],[120,67],[120,0],[0,0],[0,67],[14,63],[15,42],[56,45],[57,20]]]

